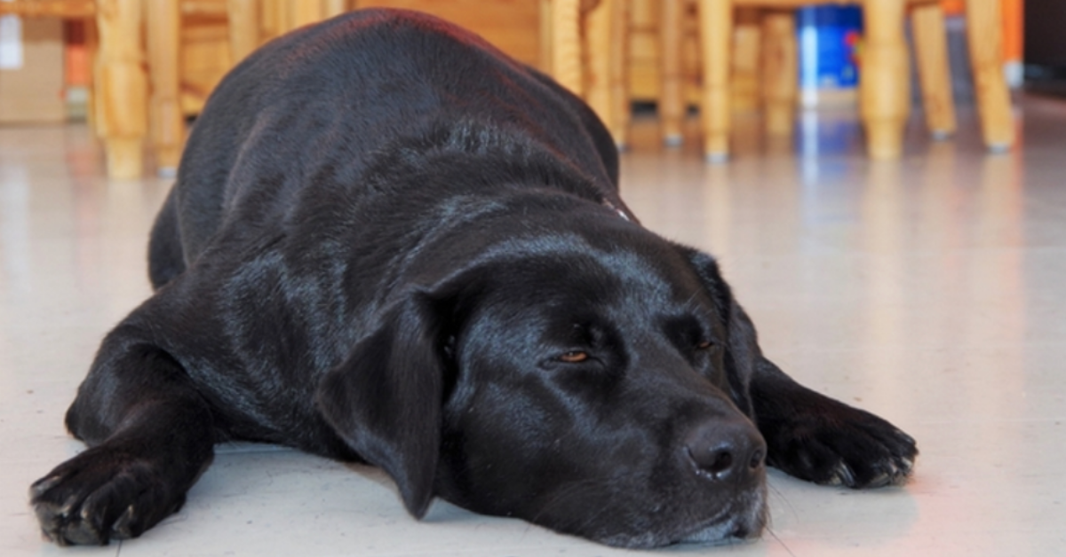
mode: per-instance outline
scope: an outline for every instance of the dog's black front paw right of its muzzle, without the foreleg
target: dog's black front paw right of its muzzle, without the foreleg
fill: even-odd
[[[918,456],[910,436],[863,410],[819,403],[763,431],[769,464],[815,484],[855,489],[906,481]]]

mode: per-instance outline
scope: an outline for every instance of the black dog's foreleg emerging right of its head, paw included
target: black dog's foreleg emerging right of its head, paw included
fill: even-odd
[[[850,488],[902,484],[915,440],[869,412],[823,396],[759,357],[752,378],[766,462],[798,478]]]

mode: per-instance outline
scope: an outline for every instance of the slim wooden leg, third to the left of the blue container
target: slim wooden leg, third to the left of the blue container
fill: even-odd
[[[684,91],[681,80],[681,18],[683,0],[662,0],[659,20],[659,119],[663,143],[681,145],[681,120],[684,118]]]

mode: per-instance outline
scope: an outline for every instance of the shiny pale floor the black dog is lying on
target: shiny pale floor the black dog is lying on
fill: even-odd
[[[771,474],[761,540],[660,553],[1062,555],[1066,547],[1066,102],[1024,98],[1021,145],[975,125],[872,163],[851,115],[793,144],[740,118],[734,160],[637,125],[624,193],[645,224],[718,255],[765,351],[814,389],[914,435],[901,489]],[[817,154],[815,154],[817,153]],[[0,555],[618,555],[437,502],[405,514],[373,470],[224,447],[185,509],[102,548],[43,542],[27,487],[80,445],[62,416],[96,344],[149,292],[146,231],[168,183],[101,176],[82,127],[0,129]]]

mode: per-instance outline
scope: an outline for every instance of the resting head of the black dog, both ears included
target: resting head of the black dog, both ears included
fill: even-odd
[[[757,536],[758,347],[715,262],[607,211],[531,212],[420,256],[323,414],[416,517],[439,495],[611,545]]]

